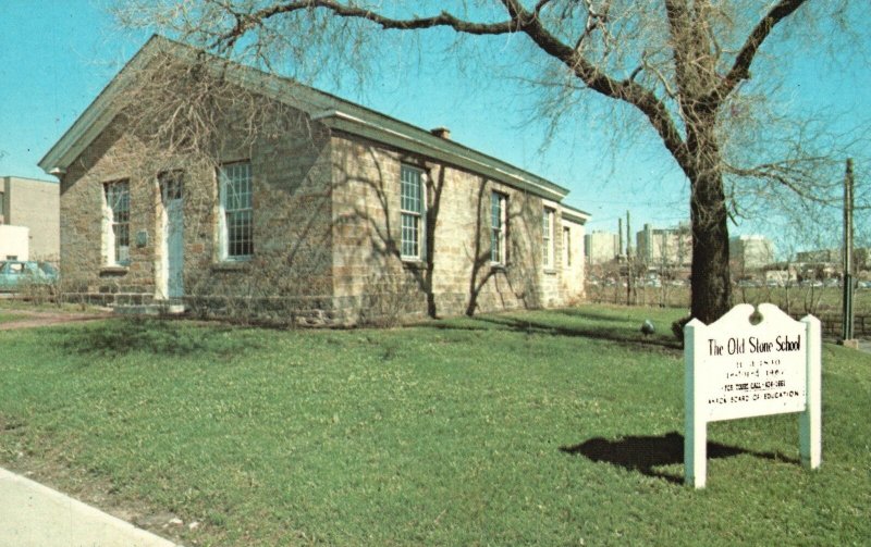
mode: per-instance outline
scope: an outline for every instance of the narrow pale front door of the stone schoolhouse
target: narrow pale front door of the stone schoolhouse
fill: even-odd
[[[169,298],[184,296],[184,200],[181,174],[161,181],[163,197],[163,274]]]

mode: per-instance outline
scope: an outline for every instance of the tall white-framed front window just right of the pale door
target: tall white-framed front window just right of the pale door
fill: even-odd
[[[221,260],[248,260],[254,254],[252,165],[236,162],[218,169],[221,200],[219,250]]]

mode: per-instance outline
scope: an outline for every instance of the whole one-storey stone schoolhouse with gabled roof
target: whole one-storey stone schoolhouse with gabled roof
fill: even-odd
[[[214,98],[222,138],[197,154],[171,138],[161,149],[130,112],[125,95],[147,86],[159,59],[201,64],[248,98]],[[269,112],[268,130],[246,129],[250,98]],[[173,123],[139,102],[157,113],[150,126]],[[244,130],[249,138],[234,138]],[[353,325],[584,296],[589,215],[563,203],[565,188],[444,128],[159,36],[40,166],[61,181],[61,273],[73,300]]]

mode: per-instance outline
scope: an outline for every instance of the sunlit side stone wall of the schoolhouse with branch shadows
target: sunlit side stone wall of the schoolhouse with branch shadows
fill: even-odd
[[[539,197],[355,136],[335,134],[332,156],[334,294],[347,320],[560,306],[582,294],[582,226],[573,227],[578,259],[564,272],[559,204],[556,262],[544,273]],[[398,252],[403,164],[426,173],[429,238],[420,262]],[[507,197],[504,265],[490,261],[492,191]]]

